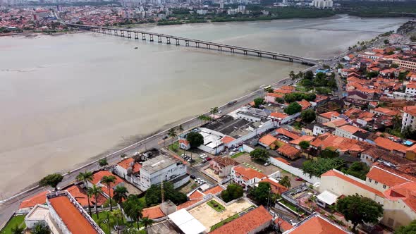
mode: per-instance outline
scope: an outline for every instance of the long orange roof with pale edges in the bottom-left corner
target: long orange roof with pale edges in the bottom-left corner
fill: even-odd
[[[77,207],[71,203],[68,197],[59,196],[49,199],[51,206],[56,214],[61,217],[63,223],[73,234],[92,234],[97,233],[87,218],[83,216]]]

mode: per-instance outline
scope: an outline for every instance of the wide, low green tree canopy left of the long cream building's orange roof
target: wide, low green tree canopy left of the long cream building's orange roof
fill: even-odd
[[[323,173],[332,169],[341,169],[345,166],[345,161],[340,158],[325,159],[318,158],[317,160],[307,160],[302,164],[302,171],[309,176],[321,177]]]

